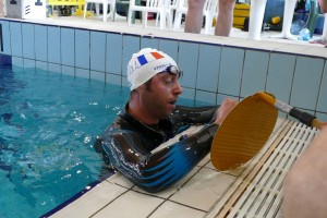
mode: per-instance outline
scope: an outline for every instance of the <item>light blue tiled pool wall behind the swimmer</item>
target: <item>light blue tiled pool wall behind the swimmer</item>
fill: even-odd
[[[276,49],[276,44],[249,46],[256,43],[251,40],[228,45],[218,37],[174,39],[7,19],[0,19],[0,27],[1,59],[11,57],[17,69],[36,68],[126,87],[125,66],[132,53],[153,47],[169,53],[183,69],[183,98],[214,105],[226,96],[242,99],[266,90],[327,120],[326,55],[315,52],[327,53],[326,48],[293,52]]]

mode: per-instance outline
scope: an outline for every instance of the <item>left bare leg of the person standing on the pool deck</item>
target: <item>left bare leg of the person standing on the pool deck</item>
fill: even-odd
[[[185,33],[199,34],[203,24],[203,8],[205,0],[189,0],[189,9],[185,17]]]

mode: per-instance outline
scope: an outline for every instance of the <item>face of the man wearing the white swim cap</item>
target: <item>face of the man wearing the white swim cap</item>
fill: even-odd
[[[178,96],[183,92],[175,74],[158,73],[144,84],[141,90],[142,104],[149,116],[157,119],[167,118],[175,108]]]

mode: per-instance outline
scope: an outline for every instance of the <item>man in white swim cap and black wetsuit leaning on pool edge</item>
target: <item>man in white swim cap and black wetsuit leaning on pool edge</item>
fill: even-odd
[[[130,100],[95,144],[104,159],[141,189],[158,192],[184,178],[210,152],[220,122],[237,105],[175,106],[182,71],[168,55],[145,48],[128,65]],[[205,124],[192,135],[153,152],[190,125]]]

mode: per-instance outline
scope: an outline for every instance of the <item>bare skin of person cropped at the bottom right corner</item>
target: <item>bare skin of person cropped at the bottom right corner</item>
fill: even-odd
[[[326,125],[326,124],[325,124]],[[327,128],[299,157],[283,182],[283,217],[325,218],[327,215]]]

